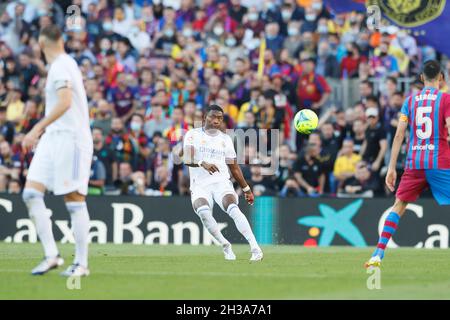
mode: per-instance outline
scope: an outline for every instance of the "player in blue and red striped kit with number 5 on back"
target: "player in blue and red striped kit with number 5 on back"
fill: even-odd
[[[427,61],[420,75],[425,87],[406,98],[392,144],[386,185],[393,192],[397,180],[395,164],[407,127],[410,128],[405,172],[395,204],[386,221],[372,257],[365,266],[380,266],[389,239],[398,227],[409,202],[430,188],[439,205],[450,205],[450,95],[439,91],[443,72],[437,61]]]

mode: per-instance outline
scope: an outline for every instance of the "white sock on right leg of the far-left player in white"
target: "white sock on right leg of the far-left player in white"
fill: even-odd
[[[86,202],[66,202],[72,220],[75,239],[74,263],[85,268],[88,266],[89,213]]]

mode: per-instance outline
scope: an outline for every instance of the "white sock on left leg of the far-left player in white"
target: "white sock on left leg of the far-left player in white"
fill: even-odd
[[[44,193],[25,188],[22,193],[23,201],[28,208],[28,214],[34,221],[39,240],[44,247],[44,254],[47,258],[54,258],[58,255],[55,238],[53,237],[51,211],[45,207]]]

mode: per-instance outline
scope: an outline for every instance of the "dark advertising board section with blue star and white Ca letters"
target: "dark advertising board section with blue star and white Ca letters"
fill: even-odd
[[[391,206],[392,199],[305,199],[301,206],[297,203],[282,206],[283,242],[309,247],[374,246]],[[297,208],[297,214],[289,219],[287,211],[293,207]],[[388,247],[445,249],[449,247],[449,228],[448,207],[438,206],[433,199],[423,199],[407,206]]]

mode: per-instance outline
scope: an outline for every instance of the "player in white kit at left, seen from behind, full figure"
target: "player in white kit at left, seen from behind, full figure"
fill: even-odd
[[[49,64],[45,117],[22,143],[25,151],[37,144],[22,194],[45,253],[44,260],[32,274],[44,274],[64,263],[53,237],[51,211],[44,203],[45,191],[52,190],[55,195],[64,195],[75,239],[74,262],[61,275],[87,276],[89,213],[85,196],[93,143],[86,92],[80,69],[66,54],[57,26],[50,25],[41,30],[39,45]]]

